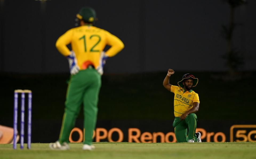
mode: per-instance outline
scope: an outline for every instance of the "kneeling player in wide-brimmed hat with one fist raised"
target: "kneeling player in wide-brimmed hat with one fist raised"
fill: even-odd
[[[174,115],[175,119],[173,127],[178,143],[181,142],[202,142],[201,133],[195,132],[197,128],[197,115],[199,109],[199,96],[192,90],[198,83],[198,78],[191,74],[185,74],[182,80],[178,82],[178,86],[169,83],[170,76],[174,74],[169,69],[163,86],[174,93]],[[187,129],[189,132],[187,133]]]

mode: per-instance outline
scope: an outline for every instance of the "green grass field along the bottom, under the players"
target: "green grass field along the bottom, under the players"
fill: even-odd
[[[33,143],[31,150],[13,150],[0,144],[0,158],[255,158],[256,143],[94,143],[94,151],[83,151],[82,143],[70,150],[51,150],[49,144]],[[18,144],[19,146],[19,144]],[[26,146],[26,144],[25,144]]]

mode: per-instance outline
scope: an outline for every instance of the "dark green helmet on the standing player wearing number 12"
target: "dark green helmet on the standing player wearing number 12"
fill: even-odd
[[[77,14],[79,20],[84,20],[87,23],[94,23],[96,18],[96,12],[91,7],[83,7]]]

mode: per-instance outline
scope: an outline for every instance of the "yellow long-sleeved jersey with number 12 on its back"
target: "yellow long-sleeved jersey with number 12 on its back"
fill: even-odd
[[[70,50],[66,45],[70,43],[80,69],[86,61],[91,61],[94,67],[98,68],[101,61],[101,53],[106,45],[111,46],[105,53],[108,57],[116,55],[124,48],[123,42],[118,37],[90,25],[83,25],[68,30],[58,38],[56,48],[61,54],[68,56],[70,55]]]

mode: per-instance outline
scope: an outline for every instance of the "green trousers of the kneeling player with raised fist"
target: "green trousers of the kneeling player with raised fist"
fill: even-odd
[[[187,115],[185,120],[181,120],[180,117],[175,117],[173,127],[177,143],[187,142],[192,139],[195,139],[195,142],[197,142],[197,136],[195,135],[195,129],[197,128],[196,114],[191,113]],[[188,133],[187,129],[189,129]]]

